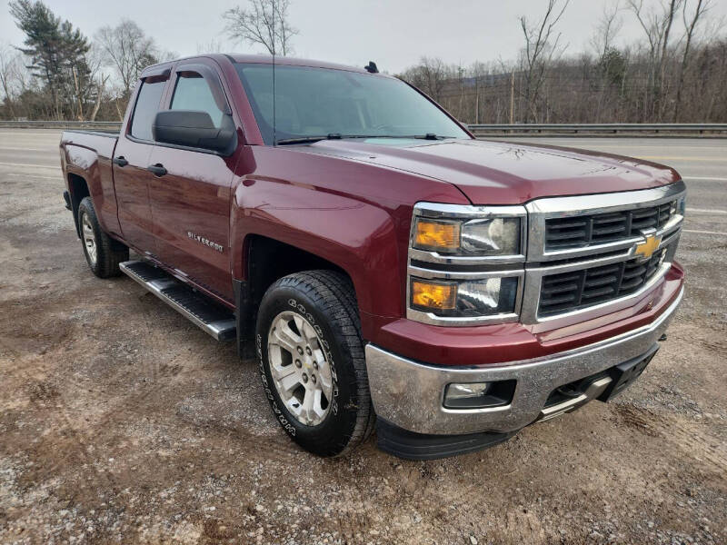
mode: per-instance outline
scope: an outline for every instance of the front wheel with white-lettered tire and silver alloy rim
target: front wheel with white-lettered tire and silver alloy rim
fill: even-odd
[[[306,451],[339,456],[373,430],[354,287],[332,271],[274,282],[257,317],[265,395],[284,431]]]

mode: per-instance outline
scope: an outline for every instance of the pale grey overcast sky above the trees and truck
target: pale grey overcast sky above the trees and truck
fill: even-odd
[[[572,0],[559,25],[568,53],[589,48],[605,1],[612,0]],[[224,37],[221,14],[244,5],[244,0],[45,0],[45,4],[89,37],[100,26],[129,17],[161,47],[182,56],[196,54],[198,46],[212,40],[221,42],[224,52],[263,53],[260,47],[234,44]],[[295,56],[355,65],[373,60],[380,70],[396,73],[423,55],[464,65],[514,59],[523,46],[518,16],[537,19],[545,4],[546,0],[291,0],[290,18],[300,32],[294,37]],[[712,16],[717,15],[727,15],[727,0],[715,0]],[[632,15],[624,13],[623,18],[621,42],[641,39]],[[20,45],[23,37],[5,2],[0,42]]]

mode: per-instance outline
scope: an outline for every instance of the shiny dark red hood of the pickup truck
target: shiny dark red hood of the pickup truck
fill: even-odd
[[[473,204],[632,191],[679,180],[676,171],[660,164],[539,144],[369,138],[324,140],[294,149],[453,183]]]

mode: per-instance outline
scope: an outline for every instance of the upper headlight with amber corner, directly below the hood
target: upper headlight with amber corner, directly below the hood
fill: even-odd
[[[440,220],[418,217],[413,247],[455,255],[517,255],[521,246],[520,218]]]

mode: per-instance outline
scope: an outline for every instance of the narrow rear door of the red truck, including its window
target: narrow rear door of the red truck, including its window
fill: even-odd
[[[153,255],[155,242],[149,182],[154,180],[154,174],[147,167],[154,149],[152,123],[163,103],[169,74],[167,68],[144,76],[114,154],[114,186],[121,232],[136,250]]]

